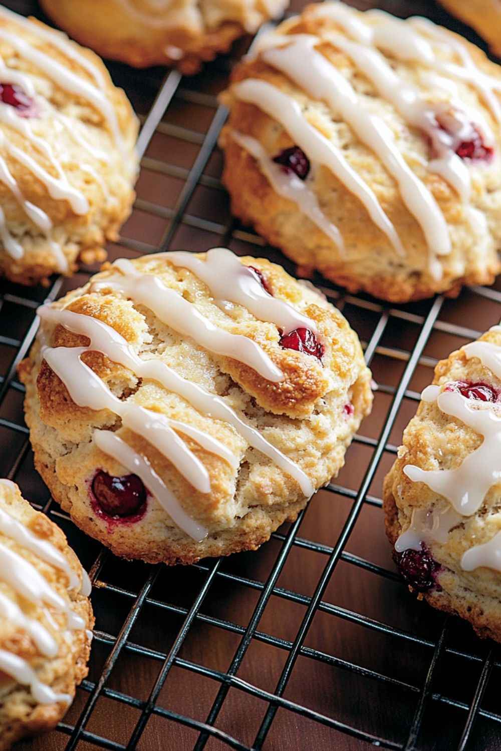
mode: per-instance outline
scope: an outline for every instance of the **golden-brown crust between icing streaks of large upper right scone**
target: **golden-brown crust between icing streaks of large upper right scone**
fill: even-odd
[[[371,20],[370,23],[373,23]],[[451,253],[439,256],[442,277],[437,279],[430,271],[430,252],[424,232],[403,202],[399,186],[385,170],[375,152],[364,146],[355,132],[347,128],[339,116],[315,100],[291,79],[263,62],[261,57],[246,59],[234,69],[231,86],[222,101],[230,109],[228,124],[222,131],[220,145],[225,152],[223,182],[231,195],[231,210],[245,224],[255,229],[271,244],[300,267],[318,269],[324,276],[349,291],[367,291],[376,297],[392,302],[408,302],[430,297],[436,292],[455,296],[464,284],[491,284],[501,271],[498,250],[501,246],[501,225],[498,207],[501,205],[501,180],[499,156],[493,164],[472,172],[472,196],[469,205],[441,176],[427,170],[430,160],[426,137],[406,123],[402,116],[373,89],[355,64],[341,53],[325,36],[335,31],[344,34],[333,20],[315,15],[315,7],[306,8],[279,26],[281,35],[318,35],[323,44],[320,51],[345,75],[361,97],[370,96],[371,111],[378,114],[389,128],[399,135],[398,143],[403,157],[413,172],[433,196],[448,224]],[[460,39],[452,35],[454,39]],[[491,63],[481,50],[462,40],[481,71],[499,79],[499,67]],[[432,102],[443,101],[444,92],[428,84],[424,86],[427,68],[417,62],[396,61],[388,57],[394,69],[424,92]],[[457,62],[455,53],[448,60]],[[232,86],[248,79],[264,80],[294,98],[306,113],[308,122],[333,143],[343,143],[343,156],[355,171],[373,189],[379,204],[394,225],[405,246],[405,256],[400,257],[388,238],[376,227],[361,201],[326,167],[318,167],[309,181],[324,216],[340,228],[345,251],[324,234],[317,225],[298,209],[297,204],[279,195],[259,167],[258,161],[234,139],[237,133],[258,141],[266,154],[273,158],[294,146],[291,136],[261,109],[237,98]],[[501,149],[499,123],[467,83],[454,79],[461,91],[461,99],[468,111],[478,113],[492,129],[496,140],[496,155]],[[484,228],[472,225],[476,210],[486,220]],[[478,216],[478,215],[475,215]]]

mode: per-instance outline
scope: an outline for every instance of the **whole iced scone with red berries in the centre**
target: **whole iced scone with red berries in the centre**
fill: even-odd
[[[370,411],[343,315],[262,258],[116,261],[39,315],[20,366],[35,466],[126,558],[254,550],[340,469]]]

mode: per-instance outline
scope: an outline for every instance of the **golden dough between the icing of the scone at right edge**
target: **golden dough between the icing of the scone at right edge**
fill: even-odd
[[[494,327],[478,341],[492,342],[499,347],[501,328]],[[441,388],[442,394],[454,391],[457,385],[469,384],[475,388],[475,385],[480,384],[481,388],[492,388],[498,399],[495,403],[468,401],[474,408],[482,411],[487,408],[495,416],[493,419],[499,419],[501,379],[482,364],[478,357],[468,359],[463,348],[452,352],[447,360],[437,364],[433,384]],[[433,575],[435,584],[427,591],[418,593],[418,599],[424,598],[433,608],[459,615],[471,623],[478,636],[501,641],[499,568],[463,568],[463,556],[471,550],[485,549],[482,546],[489,542],[492,545],[491,541],[501,530],[499,481],[494,481],[487,490],[476,511],[469,515],[456,514],[454,517],[454,509],[445,496],[432,490],[425,481],[412,481],[404,472],[404,468],[409,465],[424,470],[457,470],[471,457],[473,451],[484,445],[485,440],[469,424],[439,409],[435,401],[422,400],[418,412],[403,433],[403,445],[398,450],[398,458],[385,478],[385,526],[388,539],[394,545],[399,535],[409,530],[412,519],[415,518],[412,514],[427,515],[425,526],[429,528],[433,526],[434,517],[436,520],[439,517],[446,519],[447,514],[453,514],[452,520],[442,530],[445,535],[441,539],[433,539],[433,535],[426,538],[426,548],[438,569]],[[477,467],[475,476],[470,469],[470,482],[465,481],[464,476],[461,478],[457,475],[454,478],[457,492],[468,493],[472,488],[475,490],[484,476],[490,476],[489,472],[496,461],[499,462],[499,454],[494,452],[481,463],[480,471]],[[490,562],[494,564],[492,555]],[[418,591],[412,585],[409,590]]]

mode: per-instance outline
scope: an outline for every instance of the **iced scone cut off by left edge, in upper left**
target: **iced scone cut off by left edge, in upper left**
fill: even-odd
[[[34,284],[117,240],[137,119],[94,53],[3,7],[0,60],[0,273]]]

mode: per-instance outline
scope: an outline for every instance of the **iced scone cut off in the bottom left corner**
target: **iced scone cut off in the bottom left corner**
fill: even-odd
[[[65,535],[0,480],[0,751],[55,727],[87,674],[90,583]]]

